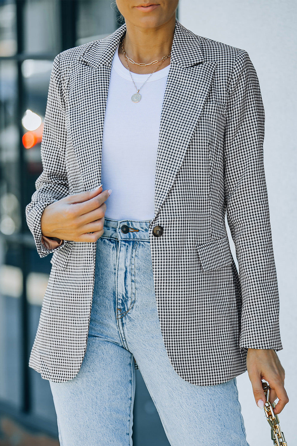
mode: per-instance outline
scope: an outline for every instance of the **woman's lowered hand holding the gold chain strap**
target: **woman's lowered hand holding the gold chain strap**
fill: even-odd
[[[280,413],[289,402],[285,391],[285,370],[274,350],[260,350],[249,348],[247,354],[248,377],[252,383],[252,391],[257,405],[263,409],[265,394],[262,388],[262,379],[269,383],[271,388],[269,401],[273,403],[279,399],[275,409],[275,414]],[[261,400],[263,403],[261,403]]]

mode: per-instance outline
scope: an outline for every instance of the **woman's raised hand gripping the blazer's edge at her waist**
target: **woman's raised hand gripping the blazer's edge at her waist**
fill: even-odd
[[[68,195],[46,206],[41,215],[41,232],[74,242],[95,242],[103,234],[105,201],[111,190],[102,186],[90,192]]]

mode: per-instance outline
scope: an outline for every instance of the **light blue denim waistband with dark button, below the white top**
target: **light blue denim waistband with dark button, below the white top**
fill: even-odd
[[[145,240],[149,241],[149,227],[151,220],[112,220],[104,219],[105,239],[115,240]]]

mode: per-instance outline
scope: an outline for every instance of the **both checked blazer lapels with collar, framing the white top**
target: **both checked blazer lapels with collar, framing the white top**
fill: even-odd
[[[85,190],[101,182],[102,137],[111,62],[126,25],[93,44],[79,58],[79,91],[70,128],[81,165]],[[155,172],[155,215],[158,214],[183,162],[187,146],[212,84],[216,62],[204,62],[199,37],[176,20],[171,49]],[[78,79],[77,79],[78,81]],[[75,102],[75,101],[74,101]],[[71,101],[70,101],[71,103]],[[71,118],[71,116],[70,116]],[[83,148],[83,150],[81,150]]]

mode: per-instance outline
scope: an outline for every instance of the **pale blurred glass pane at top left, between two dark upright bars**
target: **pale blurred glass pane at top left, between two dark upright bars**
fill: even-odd
[[[27,0],[24,4],[24,51],[31,54],[60,51],[60,2]]]

